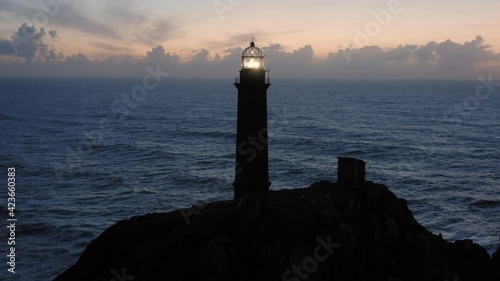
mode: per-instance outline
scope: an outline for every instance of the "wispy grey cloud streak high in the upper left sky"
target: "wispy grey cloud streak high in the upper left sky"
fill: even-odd
[[[167,39],[183,36],[172,20],[154,15],[144,6],[143,2],[136,0],[0,0],[0,14],[23,19],[29,26],[37,28],[50,24],[59,31],[82,32],[97,41],[135,41],[152,47],[163,44]],[[45,19],[40,14],[45,15]],[[48,35],[57,37],[57,33],[52,31]]]

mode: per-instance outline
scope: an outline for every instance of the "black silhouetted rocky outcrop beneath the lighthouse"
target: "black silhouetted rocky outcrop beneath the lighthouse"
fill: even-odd
[[[449,243],[384,185],[318,182],[118,222],[55,280],[500,280],[500,253]]]

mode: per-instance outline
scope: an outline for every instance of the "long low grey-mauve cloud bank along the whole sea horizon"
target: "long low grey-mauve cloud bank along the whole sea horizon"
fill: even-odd
[[[158,45],[142,58],[122,55],[93,61],[85,54],[64,58],[43,43],[45,33],[42,29],[33,31],[33,34],[36,36],[32,46],[23,53],[26,62],[16,65],[17,73],[14,75],[44,73],[49,76],[136,77],[144,75],[146,66],[159,65],[172,77],[228,78],[238,75],[243,51],[241,47],[228,48],[222,54],[212,56],[208,49],[200,49],[186,59]],[[0,52],[3,54],[10,52],[8,43],[0,40]],[[109,51],[127,51],[102,41],[93,45]],[[261,47],[266,54],[266,67],[272,69],[273,78],[475,79],[477,75],[485,75],[486,71],[486,74],[500,77],[500,54],[493,52],[481,36],[462,44],[445,40],[391,49],[379,46],[338,49],[330,52],[325,59],[318,58],[311,45],[295,50],[287,50],[281,44]],[[33,57],[39,59],[30,60]],[[12,76],[3,70],[12,67],[3,67],[2,64],[8,63],[0,62],[0,76]]]

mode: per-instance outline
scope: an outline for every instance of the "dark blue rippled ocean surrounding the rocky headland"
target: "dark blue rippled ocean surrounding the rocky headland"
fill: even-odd
[[[0,79],[0,279],[51,280],[119,220],[233,196],[232,79]],[[500,97],[479,80],[271,80],[271,189],[337,179],[337,157],[447,240],[493,253]],[[135,89],[135,90],[134,90]],[[133,94],[131,94],[133,92]],[[16,274],[7,171],[16,169]]]

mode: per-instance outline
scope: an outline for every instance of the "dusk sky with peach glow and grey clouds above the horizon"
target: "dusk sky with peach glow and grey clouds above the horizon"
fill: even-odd
[[[0,0],[0,77],[500,77],[500,0]]]

